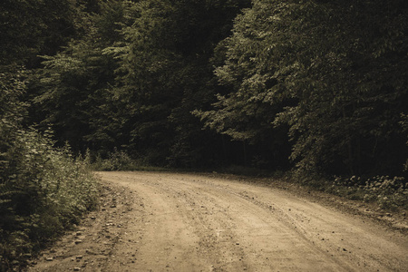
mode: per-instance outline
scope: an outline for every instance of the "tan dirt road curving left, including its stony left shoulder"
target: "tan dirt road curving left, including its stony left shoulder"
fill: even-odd
[[[104,205],[30,271],[408,271],[408,238],[282,189],[100,172]]]

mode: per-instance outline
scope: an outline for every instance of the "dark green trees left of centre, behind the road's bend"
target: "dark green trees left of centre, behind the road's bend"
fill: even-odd
[[[212,100],[213,46],[248,3],[100,3],[85,35],[44,56],[31,85],[33,121],[52,123],[59,143],[74,151],[106,157],[117,148],[153,165],[205,163],[219,136],[202,133],[191,112]]]

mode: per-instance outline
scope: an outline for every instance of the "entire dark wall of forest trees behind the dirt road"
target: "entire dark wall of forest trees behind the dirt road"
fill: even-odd
[[[402,175],[405,2],[5,1],[0,59],[29,71],[24,123],[76,152]]]

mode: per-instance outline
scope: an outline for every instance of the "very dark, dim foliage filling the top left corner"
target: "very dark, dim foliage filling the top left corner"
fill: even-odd
[[[76,0],[4,0],[0,4],[0,63],[37,66],[38,54],[56,53],[81,32]]]

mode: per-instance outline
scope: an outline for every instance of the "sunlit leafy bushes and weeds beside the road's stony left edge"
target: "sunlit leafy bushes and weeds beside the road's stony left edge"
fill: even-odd
[[[0,160],[0,271],[18,271],[97,205],[88,161],[34,129],[7,135]]]

